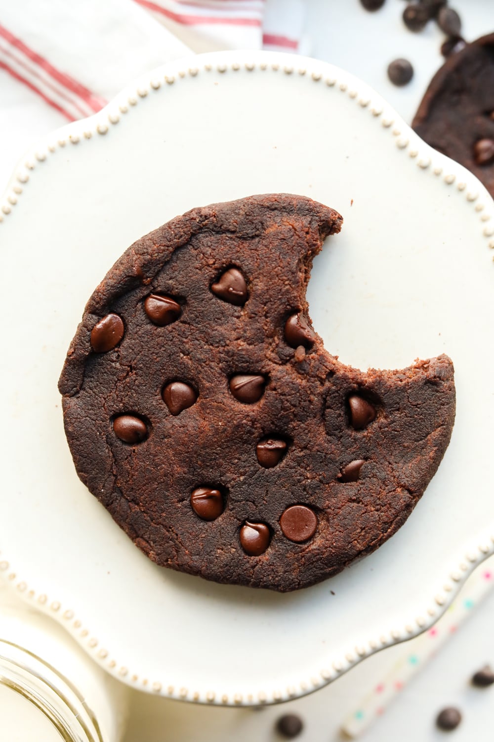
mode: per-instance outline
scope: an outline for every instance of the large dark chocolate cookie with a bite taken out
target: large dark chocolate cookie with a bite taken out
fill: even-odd
[[[341,216],[291,195],[193,209],[98,286],[59,388],[81,480],[158,565],[290,591],[374,551],[438,467],[446,356],[363,373],[307,314]]]

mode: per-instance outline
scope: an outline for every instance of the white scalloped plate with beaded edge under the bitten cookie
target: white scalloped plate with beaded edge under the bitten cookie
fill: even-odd
[[[310,312],[356,367],[447,352],[453,438],[400,531],[293,594],[153,565],[87,492],[57,381],[84,303],[127,246],[193,206],[304,194],[344,215]],[[494,551],[494,205],[358,79],[232,52],[156,70],[40,142],[1,208],[0,571],[138,689],[219,704],[307,694],[430,626]]]

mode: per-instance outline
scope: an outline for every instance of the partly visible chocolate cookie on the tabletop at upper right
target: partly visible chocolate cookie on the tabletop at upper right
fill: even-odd
[[[472,171],[494,197],[494,34],[447,59],[412,126],[427,144]]]

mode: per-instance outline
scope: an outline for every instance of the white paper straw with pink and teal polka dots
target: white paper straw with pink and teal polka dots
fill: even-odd
[[[410,680],[423,669],[438,650],[454,636],[481,600],[494,587],[494,560],[488,559],[475,570],[458,597],[435,625],[424,634],[404,643],[404,651],[390,672],[365,695],[342,726],[342,731],[356,738],[384,714],[387,706]]]

